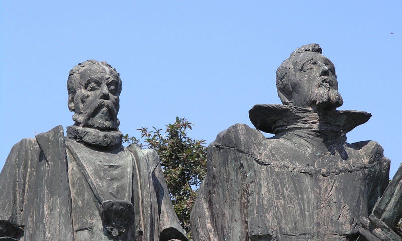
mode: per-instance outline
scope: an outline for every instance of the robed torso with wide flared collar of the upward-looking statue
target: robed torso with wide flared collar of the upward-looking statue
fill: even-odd
[[[345,134],[371,115],[256,105],[257,129],[236,124],[208,147],[208,174],[191,212],[193,240],[365,240],[388,184],[389,160],[373,141]]]

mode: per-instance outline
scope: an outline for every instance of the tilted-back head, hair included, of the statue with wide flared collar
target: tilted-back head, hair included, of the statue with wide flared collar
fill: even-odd
[[[332,107],[343,104],[335,66],[318,44],[296,49],[276,71],[276,88],[283,104]]]

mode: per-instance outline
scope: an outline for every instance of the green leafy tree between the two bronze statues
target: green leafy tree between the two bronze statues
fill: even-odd
[[[205,140],[187,136],[192,126],[187,119],[176,117],[176,121],[168,124],[165,131],[143,127],[137,129],[141,139],[129,135],[123,137],[124,142],[154,149],[159,154],[174,210],[189,238],[190,212],[196,199],[196,190],[207,173]]]

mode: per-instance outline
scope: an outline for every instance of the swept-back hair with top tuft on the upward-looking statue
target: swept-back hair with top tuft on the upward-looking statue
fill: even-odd
[[[285,59],[276,70],[276,90],[283,104],[293,104],[292,87],[290,86],[290,78],[292,73],[291,60],[294,56],[305,52],[316,52],[322,54],[323,50],[318,44],[307,44],[294,50],[289,58]]]

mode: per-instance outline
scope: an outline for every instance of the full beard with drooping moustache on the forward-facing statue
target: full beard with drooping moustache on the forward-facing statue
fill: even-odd
[[[98,130],[117,130],[120,124],[115,106],[104,99],[92,103],[85,113],[74,114],[73,120],[82,127]]]

